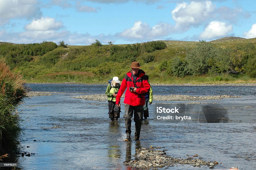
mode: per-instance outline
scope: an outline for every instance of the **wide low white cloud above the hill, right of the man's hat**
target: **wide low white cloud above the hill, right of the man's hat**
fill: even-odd
[[[167,23],[159,23],[151,28],[148,24],[142,23],[142,21],[136,21],[133,27],[116,34],[116,36],[127,40],[152,40],[168,35],[172,27],[172,25]]]

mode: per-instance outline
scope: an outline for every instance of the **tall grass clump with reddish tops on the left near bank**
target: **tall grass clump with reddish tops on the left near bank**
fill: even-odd
[[[20,73],[10,71],[8,65],[0,62],[0,156],[14,156],[20,129],[17,107],[27,97],[28,88]]]

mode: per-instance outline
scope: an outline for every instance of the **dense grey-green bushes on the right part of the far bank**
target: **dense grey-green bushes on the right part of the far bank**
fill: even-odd
[[[171,67],[168,73],[178,77],[223,74],[248,74],[255,77],[255,49],[252,43],[223,49],[214,48],[210,42],[200,41],[196,47],[187,50],[184,60],[175,57],[168,66]]]

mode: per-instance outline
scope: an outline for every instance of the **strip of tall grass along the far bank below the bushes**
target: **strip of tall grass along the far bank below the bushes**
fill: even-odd
[[[127,71],[130,68],[127,68]],[[122,76],[121,76],[122,77]],[[109,75],[93,76],[87,72],[71,72],[71,73],[55,73],[43,76],[41,78],[35,78],[27,81],[27,83],[84,83],[84,84],[107,84],[107,80],[112,79]],[[122,80],[122,79],[120,79]],[[250,78],[246,75],[239,77],[234,76],[186,76],[186,77],[174,77],[174,76],[160,76],[150,77],[150,83],[152,84],[223,84],[223,83],[256,83],[256,78]]]

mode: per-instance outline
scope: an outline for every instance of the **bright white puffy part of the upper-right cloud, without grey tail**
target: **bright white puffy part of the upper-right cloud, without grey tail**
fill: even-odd
[[[192,25],[200,25],[211,16],[214,9],[211,1],[178,4],[172,10],[172,18],[176,21],[175,29],[186,31]]]

